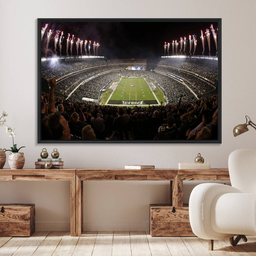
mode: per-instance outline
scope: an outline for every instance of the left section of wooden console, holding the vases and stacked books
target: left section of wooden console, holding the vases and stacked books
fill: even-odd
[[[76,169],[0,169],[0,181],[70,181],[70,235],[75,236],[75,173]]]

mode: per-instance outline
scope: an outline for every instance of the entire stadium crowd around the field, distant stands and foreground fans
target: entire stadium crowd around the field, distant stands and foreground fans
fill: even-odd
[[[128,65],[146,64],[146,59],[95,58],[42,63],[42,77],[49,81],[50,92],[41,93],[41,139],[217,140],[218,95],[198,100],[186,85],[197,95],[214,87],[178,69],[202,74],[214,81],[218,68],[170,59],[161,60],[155,70],[172,73],[181,77],[183,82],[155,71],[127,70]],[[107,73],[98,75],[102,72]],[[93,79],[83,82],[93,76]],[[157,86],[162,90],[167,104],[131,108],[82,100],[83,97],[99,100],[101,90],[122,76],[145,77],[151,89]],[[56,83],[54,78],[61,79]],[[79,84],[67,100],[54,96],[54,91],[67,96]]]

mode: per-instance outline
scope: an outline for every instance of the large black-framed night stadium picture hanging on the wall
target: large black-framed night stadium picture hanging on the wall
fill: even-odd
[[[221,19],[38,18],[38,143],[221,143]]]

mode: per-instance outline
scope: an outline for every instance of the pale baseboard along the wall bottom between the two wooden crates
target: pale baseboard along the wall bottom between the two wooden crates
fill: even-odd
[[[149,230],[148,222],[84,222],[86,231],[145,231]],[[70,223],[36,222],[36,231],[68,231]]]

